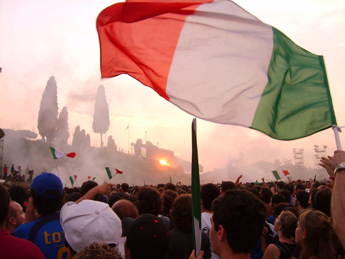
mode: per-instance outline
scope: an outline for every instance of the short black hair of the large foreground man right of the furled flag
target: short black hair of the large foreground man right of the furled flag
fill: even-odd
[[[262,236],[266,207],[253,193],[228,190],[212,203],[214,228],[226,230],[230,248],[237,253],[249,253]]]

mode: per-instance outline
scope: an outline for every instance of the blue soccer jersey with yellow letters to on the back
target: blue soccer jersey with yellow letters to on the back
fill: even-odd
[[[67,258],[59,212],[42,215],[38,220],[20,225],[14,236],[36,244],[46,259]]]

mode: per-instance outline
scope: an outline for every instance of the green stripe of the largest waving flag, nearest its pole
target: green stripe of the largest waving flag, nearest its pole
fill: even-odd
[[[268,83],[250,128],[278,140],[294,140],[336,125],[323,56],[272,29]]]

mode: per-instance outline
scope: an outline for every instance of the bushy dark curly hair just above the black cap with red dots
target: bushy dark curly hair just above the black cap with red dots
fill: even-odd
[[[135,202],[139,214],[158,216],[163,210],[161,194],[157,189],[143,186],[139,189],[138,201]]]

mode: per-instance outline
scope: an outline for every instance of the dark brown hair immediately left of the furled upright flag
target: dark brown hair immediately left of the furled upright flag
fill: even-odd
[[[183,194],[172,204],[170,216],[177,229],[183,232],[192,232],[192,198],[189,194]]]

